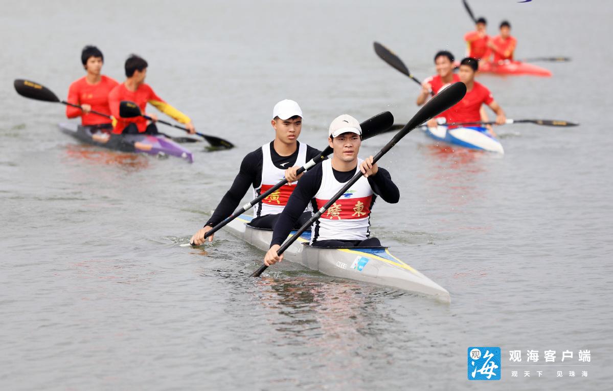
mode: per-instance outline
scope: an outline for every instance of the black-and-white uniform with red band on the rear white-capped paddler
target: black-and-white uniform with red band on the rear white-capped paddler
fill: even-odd
[[[226,217],[234,213],[238,204],[251,187],[253,198],[257,198],[262,193],[285,179],[285,170],[294,166],[304,166],[307,161],[318,158],[321,151],[310,147],[307,144],[297,143],[297,148],[292,155],[281,156],[276,153],[274,142],[262,145],[262,147],[248,153],[240,165],[240,170],[232,187],[226,192],[221,202],[216,207],[215,212],[205,224],[215,226],[222,222]],[[297,182],[285,184],[259,203],[254,205],[253,217],[249,225],[257,228],[272,228],[279,214],[283,211],[292,192],[294,192]],[[311,217],[312,209],[305,206],[300,212],[301,222],[306,222]]]

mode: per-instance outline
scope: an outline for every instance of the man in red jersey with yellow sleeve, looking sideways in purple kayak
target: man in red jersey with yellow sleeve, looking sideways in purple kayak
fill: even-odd
[[[113,117],[117,122],[113,127],[113,134],[137,134],[137,133],[158,133],[155,122],[158,120],[157,115],[145,112],[145,106],[147,103],[153,105],[156,109],[160,110],[169,117],[174,118],[180,123],[185,124],[189,133],[196,133],[194,125],[192,125],[189,117],[174,107],[164,102],[156,93],[153,88],[145,84],[145,77],[147,77],[147,61],[140,58],[137,55],[131,55],[126,60],[124,66],[126,71],[126,81],[113,88],[109,95],[109,106]],[[147,123],[147,118],[134,117],[134,118],[121,118],[119,115],[119,106],[121,101],[131,101],[140,107],[140,112],[148,117],[151,117],[153,122]]]

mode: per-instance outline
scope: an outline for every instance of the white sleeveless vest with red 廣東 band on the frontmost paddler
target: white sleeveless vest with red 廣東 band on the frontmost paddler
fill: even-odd
[[[362,159],[357,160],[356,174]],[[332,172],[332,160],[322,163],[321,186],[315,194],[318,209],[329,201],[343,183]],[[373,189],[364,176],[360,177],[337,202],[332,204],[311,228],[311,244],[324,240],[365,240],[370,236],[370,208],[373,206]]]

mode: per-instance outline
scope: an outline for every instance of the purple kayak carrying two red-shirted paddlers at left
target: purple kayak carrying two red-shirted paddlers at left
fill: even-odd
[[[122,152],[147,153],[154,156],[176,156],[189,163],[194,162],[192,153],[181,145],[161,135],[109,134],[77,123],[60,123],[59,129],[79,141]]]

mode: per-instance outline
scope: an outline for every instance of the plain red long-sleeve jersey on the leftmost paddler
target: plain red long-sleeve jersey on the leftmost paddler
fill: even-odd
[[[66,101],[72,104],[89,104],[91,109],[102,114],[111,115],[109,109],[109,93],[119,83],[108,76],[102,75],[100,81],[96,84],[89,84],[85,76],[70,84],[68,89],[68,98]],[[83,110],[77,107],[66,106],[66,117],[77,118],[81,117],[82,125],[99,125],[101,123],[110,123],[109,118],[102,117],[97,114],[84,114]]]

